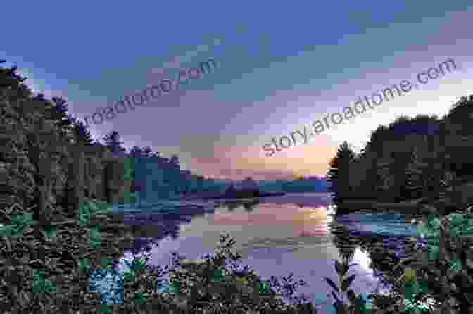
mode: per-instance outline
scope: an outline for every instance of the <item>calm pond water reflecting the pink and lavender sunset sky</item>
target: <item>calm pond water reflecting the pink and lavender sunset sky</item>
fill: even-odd
[[[361,242],[378,234],[386,247],[402,254],[403,246],[396,240],[417,233],[404,215],[351,214],[334,220],[329,201],[328,194],[312,193],[286,194],[261,199],[260,203],[217,207],[206,203],[205,211],[198,206],[172,208],[168,204],[161,206],[167,213],[156,213],[157,207],[150,205],[140,212],[125,214],[125,222],[140,225],[143,238],[137,241],[136,250],[150,246],[153,265],[170,264],[172,252],[186,258],[202,258],[213,253],[220,234],[229,232],[236,239],[234,250],[244,257],[242,263],[250,265],[263,279],[292,272],[294,281],[308,282],[308,287],[301,287],[298,294],[303,293],[320,305],[321,313],[332,313],[331,308],[326,308],[332,304],[332,299],[327,299],[331,289],[323,277],[337,282],[334,260],[341,258],[342,251],[348,250],[353,256],[351,263],[358,264],[351,269],[357,275],[352,284],[355,293],[367,294],[377,287],[386,291]],[[132,209],[136,210],[127,211]],[[338,237],[336,230],[343,230],[345,237]],[[127,252],[123,259],[131,256]],[[123,267],[127,268],[121,263],[119,269]]]

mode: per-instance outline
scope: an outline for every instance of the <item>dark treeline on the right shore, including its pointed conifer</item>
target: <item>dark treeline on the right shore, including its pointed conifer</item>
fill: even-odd
[[[356,154],[339,146],[327,172],[335,202],[441,199],[473,181],[473,95],[462,96],[447,115],[401,116],[380,125]]]

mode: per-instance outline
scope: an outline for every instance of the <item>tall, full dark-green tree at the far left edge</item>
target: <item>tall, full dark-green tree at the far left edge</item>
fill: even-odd
[[[23,208],[33,208],[37,230],[53,219],[51,191],[61,175],[58,164],[67,158],[69,143],[47,114],[52,103],[38,101],[16,69],[0,68],[0,156],[10,165],[13,179],[3,191],[13,198],[19,196]]]

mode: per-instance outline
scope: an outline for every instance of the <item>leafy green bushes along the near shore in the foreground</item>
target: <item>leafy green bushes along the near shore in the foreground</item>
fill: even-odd
[[[100,247],[103,241],[101,229],[90,226],[90,218],[95,213],[107,213],[110,208],[107,204],[87,204],[81,208],[77,226],[88,230],[90,245]],[[347,275],[351,266],[348,261],[335,262],[339,284],[329,278],[325,280],[334,290],[332,296],[337,314],[422,314],[440,313],[440,309],[447,310],[443,313],[472,313],[473,214],[467,211],[441,216],[435,208],[426,208],[429,215],[412,221],[417,223],[420,237],[412,239],[408,257],[387,275],[395,289],[388,296],[368,295],[372,306],[362,295],[357,296],[349,289],[355,275]],[[11,213],[9,217],[10,225],[0,227],[3,241],[0,257],[2,263],[11,265],[0,274],[7,283],[0,286],[8,291],[6,299],[3,295],[0,297],[1,305],[6,308],[30,311],[42,308],[41,313],[61,310],[75,313],[72,310],[78,308],[86,308],[84,313],[137,313],[139,310],[141,313],[317,313],[305,296],[294,296],[298,287],[306,284],[303,280],[293,282],[292,274],[282,277],[282,282],[277,277],[262,280],[247,265],[238,265],[241,256],[232,253],[235,241],[229,235],[220,237],[213,256],[198,262],[185,263],[182,256],[175,254],[172,269],[168,265],[161,268],[149,265],[150,256],[145,252],[144,257],[133,258],[128,263],[130,271],[119,275],[116,263],[111,260],[84,258],[77,261],[75,269],[68,272],[67,280],[61,282],[58,278],[64,277],[53,275],[54,268],[63,267],[57,262],[49,267],[47,263],[39,263],[40,260],[32,260],[22,266],[20,259],[14,253],[12,255],[12,246],[18,250],[24,246],[26,238],[34,240],[32,227],[37,222],[28,214]],[[40,231],[40,241],[61,251],[65,243],[61,240],[64,230],[60,227],[50,229]],[[33,246],[26,244],[26,247],[32,249]],[[149,248],[146,251],[149,252]],[[107,273],[118,276],[115,280],[118,287],[110,291],[118,294],[118,299],[112,300],[93,291],[90,279],[94,276],[103,278]],[[170,289],[163,292],[159,288],[166,283],[165,275],[170,277]],[[8,282],[16,282],[16,288],[11,289],[14,284],[8,287]],[[76,286],[70,287],[72,283]],[[91,287],[90,291],[86,283]],[[348,305],[343,303],[343,294],[347,296]],[[431,305],[427,305],[429,298],[434,300]],[[290,303],[283,299],[289,299]]]

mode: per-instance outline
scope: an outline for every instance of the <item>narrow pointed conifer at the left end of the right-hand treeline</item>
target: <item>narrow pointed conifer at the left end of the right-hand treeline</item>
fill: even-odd
[[[327,181],[331,183],[329,191],[335,203],[347,198],[350,193],[349,170],[350,163],[355,158],[355,153],[347,142],[339,146],[336,156],[330,161],[327,172]]]

